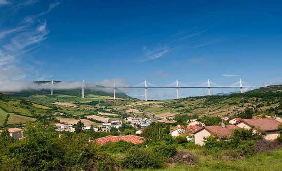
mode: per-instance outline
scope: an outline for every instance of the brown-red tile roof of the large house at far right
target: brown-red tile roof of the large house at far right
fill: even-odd
[[[278,125],[280,124],[280,122],[276,121],[275,119],[263,118],[263,119],[243,119],[242,121],[237,122],[235,125],[238,125],[241,122],[249,126],[254,126],[255,129],[261,129],[264,131],[278,130]]]

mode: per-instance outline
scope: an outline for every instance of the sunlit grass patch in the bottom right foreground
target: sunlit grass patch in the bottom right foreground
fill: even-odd
[[[167,166],[162,169],[155,169],[156,171],[181,171],[181,170],[201,170],[201,171],[225,171],[225,170],[244,170],[244,171],[274,171],[282,168],[282,149],[266,153],[260,153],[250,158],[243,158],[241,160],[225,161],[216,159],[212,156],[198,156],[198,166],[189,166],[185,164],[177,164],[175,166]],[[151,169],[136,169],[136,170],[151,170]]]

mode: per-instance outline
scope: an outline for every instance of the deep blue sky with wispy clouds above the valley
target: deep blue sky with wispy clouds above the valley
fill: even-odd
[[[281,17],[282,2],[271,0],[0,0],[0,91],[42,80],[282,84]],[[125,91],[144,98],[144,89]],[[228,91],[235,90],[212,92]],[[148,93],[175,98],[175,89]],[[180,96],[206,94],[182,90]]]

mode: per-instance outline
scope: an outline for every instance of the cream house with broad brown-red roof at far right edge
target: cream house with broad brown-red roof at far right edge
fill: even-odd
[[[266,131],[266,140],[274,140],[279,136],[278,125],[280,122],[272,118],[263,118],[263,119],[243,119],[237,122],[235,125],[244,128],[251,129],[254,127],[254,130],[263,130]]]

